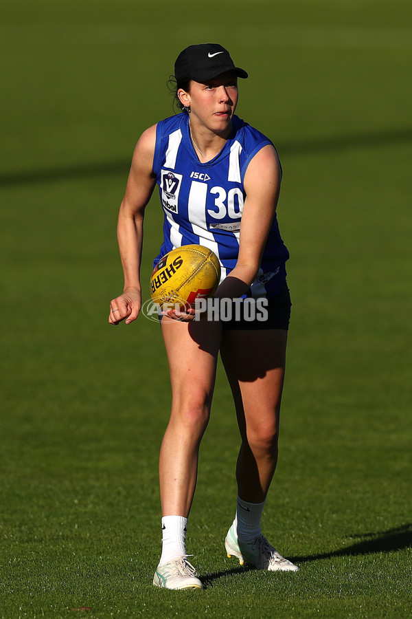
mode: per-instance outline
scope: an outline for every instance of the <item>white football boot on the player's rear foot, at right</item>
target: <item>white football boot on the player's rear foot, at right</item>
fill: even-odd
[[[233,525],[227,532],[225,548],[227,556],[229,558],[236,556],[240,565],[247,561],[258,569],[268,569],[269,572],[297,572],[299,569],[297,565],[279,554],[262,534],[256,536],[252,541],[238,541],[238,536],[233,531]]]

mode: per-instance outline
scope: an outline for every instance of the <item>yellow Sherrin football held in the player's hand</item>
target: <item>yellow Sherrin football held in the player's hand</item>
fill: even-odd
[[[150,278],[152,301],[159,305],[188,307],[207,298],[220,281],[216,254],[202,245],[183,245],[159,260]]]

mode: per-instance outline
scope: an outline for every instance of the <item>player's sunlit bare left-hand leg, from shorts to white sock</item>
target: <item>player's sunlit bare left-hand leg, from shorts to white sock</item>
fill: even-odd
[[[163,317],[172,384],[172,412],[159,461],[163,516],[187,517],[196,488],[198,450],[209,422],[220,345],[220,323],[180,323]]]

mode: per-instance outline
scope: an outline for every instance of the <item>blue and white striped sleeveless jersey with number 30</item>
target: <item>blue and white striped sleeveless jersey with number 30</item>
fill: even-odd
[[[218,257],[220,281],[225,279],[238,259],[246,199],[244,174],[253,156],[266,144],[272,142],[263,133],[233,116],[225,146],[214,159],[201,163],[190,139],[186,113],[157,124],[153,172],[164,211],[164,240],[154,265],[176,247],[203,245]],[[276,294],[286,279],[288,257],[275,214],[258,276],[244,296]]]

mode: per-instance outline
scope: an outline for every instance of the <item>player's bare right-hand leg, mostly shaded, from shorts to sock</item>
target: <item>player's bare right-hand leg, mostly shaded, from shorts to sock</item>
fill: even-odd
[[[242,437],[238,495],[250,503],[266,499],[275,473],[286,341],[282,329],[228,331],[222,338],[222,361]]]

